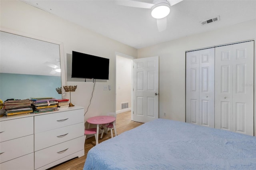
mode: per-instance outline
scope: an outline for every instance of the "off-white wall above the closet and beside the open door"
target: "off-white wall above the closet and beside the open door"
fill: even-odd
[[[138,58],[159,55],[159,117],[185,121],[185,51],[255,38],[256,21],[251,20],[138,49]],[[164,117],[164,113],[166,113],[166,117]]]

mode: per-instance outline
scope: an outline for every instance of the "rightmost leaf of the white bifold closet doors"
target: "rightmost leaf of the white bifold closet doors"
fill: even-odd
[[[233,45],[233,126],[235,132],[254,134],[254,43]]]

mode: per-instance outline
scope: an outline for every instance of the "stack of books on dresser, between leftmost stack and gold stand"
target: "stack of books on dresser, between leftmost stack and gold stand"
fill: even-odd
[[[32,101],[32,108],[34,113],[44,113],[57,110],[57,103],[55,98],[30,98]]]

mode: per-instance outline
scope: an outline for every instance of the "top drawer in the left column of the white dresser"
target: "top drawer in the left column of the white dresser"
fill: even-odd
[[[34,133],[34,118],[25,117],[0,122],[0,142]]]

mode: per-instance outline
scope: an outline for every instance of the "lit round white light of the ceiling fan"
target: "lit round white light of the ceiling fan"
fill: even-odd
[[[167,3],[156,4],[151,9],[151,15],[153,18],[161,19],[170,13],[170,5]]]

